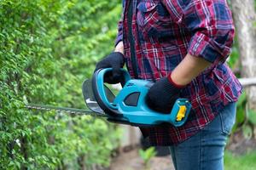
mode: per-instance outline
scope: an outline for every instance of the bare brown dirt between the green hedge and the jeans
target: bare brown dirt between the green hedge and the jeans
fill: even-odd
[[[172,158],[168,156],[154,156],[147,169],[143,159],[138,155],[138,148],[122,152],[113,158],[110,170],[174,170]]]

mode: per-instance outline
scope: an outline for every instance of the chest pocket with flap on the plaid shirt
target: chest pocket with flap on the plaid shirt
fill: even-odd
[[[161,3],[145,1],[137,4],[138,30],[144,38],[167,36],[172,33],[171,24],[170,14]]]

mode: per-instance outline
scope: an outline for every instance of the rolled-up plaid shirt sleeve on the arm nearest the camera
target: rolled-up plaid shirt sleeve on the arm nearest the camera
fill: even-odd
[[[228,58],[235,27],[225,0],[162,0],[179,25],[191,33],[188,53],[212,63]]]

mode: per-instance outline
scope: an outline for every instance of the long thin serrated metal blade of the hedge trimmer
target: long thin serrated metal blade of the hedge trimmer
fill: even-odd
[[[69,107],[58,107],[53,105],[40,105],[40,104],[26,104],[25,107],[27,109],[36,109],[41,111],[60,111],[65,112],[68,114],[74,114],[74,115],[90,115],[90,116],[107,116],[105,114],[99,114],[94,111],[89,110],[83,110],[83,109],[75,109],[75,108],[69,108]]]

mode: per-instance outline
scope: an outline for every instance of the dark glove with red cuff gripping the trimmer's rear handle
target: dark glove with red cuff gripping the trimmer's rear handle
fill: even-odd
[[[163,77],[149,88],[146,103],[154,111],[170,113],[183,88],[185,86],[179,86],[172,82],[171,75]]]

